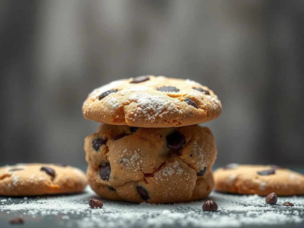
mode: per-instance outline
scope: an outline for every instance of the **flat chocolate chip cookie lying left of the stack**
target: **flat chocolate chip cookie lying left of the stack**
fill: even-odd
[[[82,192],[87,183],[83,171],[60,163],[30,163],[0,167],[0,195]]]

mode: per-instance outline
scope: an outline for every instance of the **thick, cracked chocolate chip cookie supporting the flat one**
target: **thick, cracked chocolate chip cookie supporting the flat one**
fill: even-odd
[[[212,190],[212,132],[198,125],[138,128],[102,124],[85,138],[88,181],[107,199],[185,202]]]

